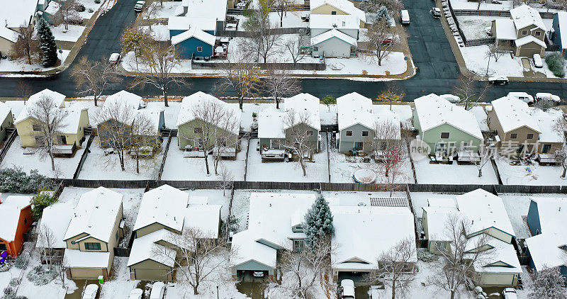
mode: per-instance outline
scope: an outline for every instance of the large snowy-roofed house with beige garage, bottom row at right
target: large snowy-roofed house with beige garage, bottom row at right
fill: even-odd
[[[430,198],[422,218],[430,252],[454,246],[445,225],[453,217],[464,225],[466,254],[488,251],[474,264],[478,283],[483,287],[517,286],[522,267],[512,245],[515,233],[502,199],[483,189],[456,196],[456,205],[445,198]],[[480,238],[484,238],[482,247],[478,247]]]

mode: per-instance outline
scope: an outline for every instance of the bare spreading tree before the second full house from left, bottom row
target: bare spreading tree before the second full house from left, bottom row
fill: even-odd
[[[198,295],[201,283],[213,280],[213,273],[222,269],[230,258],[230,250],[225,248],[224,238],[210,239],[206,232],[196,228],[185,228],[181,234],[171,233],[167,238],[172,246],[156,246],[152,254],[171,261],[173,271],[193,288]],[[170,248],[176,254],[171,254]]]

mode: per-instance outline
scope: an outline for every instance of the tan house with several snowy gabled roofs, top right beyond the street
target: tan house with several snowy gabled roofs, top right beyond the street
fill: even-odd
[[[510,49],[515,56],[544,56],[547,28],[537,9],[526,4],[510,9],[510,19],[492,21],[490,31],[496,46]]]

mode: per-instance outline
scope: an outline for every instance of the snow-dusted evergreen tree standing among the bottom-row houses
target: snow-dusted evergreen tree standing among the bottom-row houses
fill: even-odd
[[[322,195],[319,195],[315,203],[305,213],[305,223],[303,224],[305,232],[305,244],[311,247],[312,244],[318,244],[323,237],[330,237],[335,232],[332,226],[332,214],[329,204]]]

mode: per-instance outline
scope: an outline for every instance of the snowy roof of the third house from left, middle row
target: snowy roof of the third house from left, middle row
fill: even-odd
[[[203,91],[197,91],[195,94],[191,94],[191,96],[183,98],[183,101],[181,101],[181,108],[179,108],[179,115],[177,116],[177,128],[179,128],[180,125],[189,123],[191,120],[195,119],[193,111],[195,108],[198,108],[200,103],[218,103],[222,105],[226,111],[232,111],[234,114],[233,118],[236,118],[236,123],[238,124],[235,125],[232,132],[238,134],[240,131],[240,118],[242,115],[240,108],[238,108],[238,104],[220,101],[215,96],[205,94]]]

